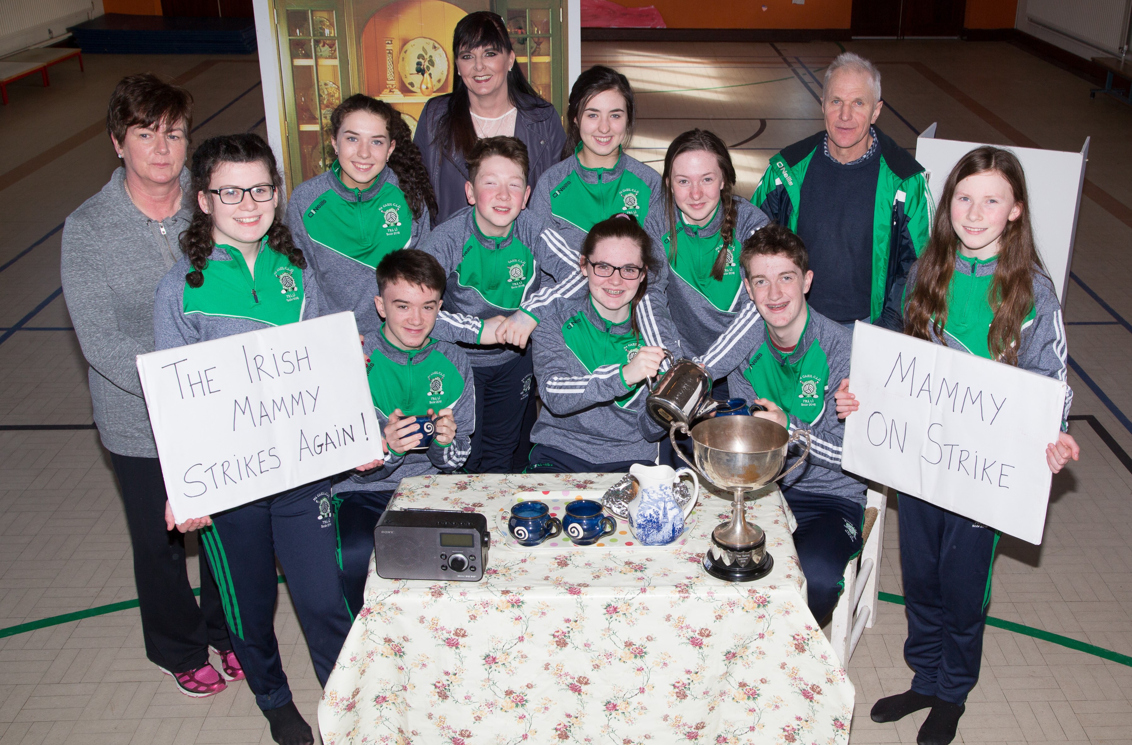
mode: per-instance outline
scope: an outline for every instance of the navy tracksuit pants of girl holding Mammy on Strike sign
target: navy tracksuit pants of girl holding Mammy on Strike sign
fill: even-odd
[[[963,703],[979,679],[998,533],[923,499],[899,498],[911,687]]]

